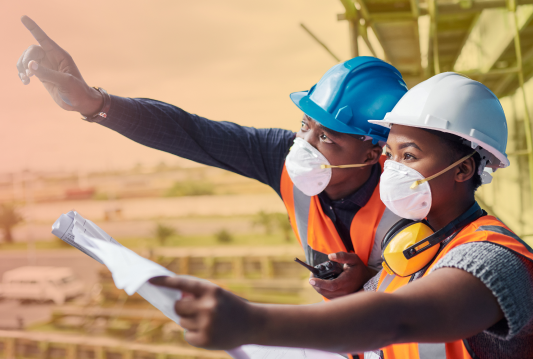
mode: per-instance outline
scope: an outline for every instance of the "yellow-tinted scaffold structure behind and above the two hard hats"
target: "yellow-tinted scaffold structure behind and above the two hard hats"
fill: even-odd
[[[527,5],[525,7],[533,9],[533,0],[460,0],[453,3],[441,0],[395,0],[394,2],[340,0],[340,2],[345,12],[338,14],[337,20],[348,21],[351,56],[360,54],[359,37],[374,56],[377,56],[375,47],[381,46],[384,54],[382,59],[402,72],[409,87],[442,71],[457,72],[455,68],[460,55],[484,11],[507,11],[509,21],[503,20],[499,26],[506,31],[512,30],[512,34],[508,37],[509,42],[501,46],[497,56],[491,59],[492,62],[489,61],[489,66],[458,72],[484,83],[500,98],[510,96],[512,101],[523,102],[523,115],[517,117],[514,114],[515,121],[511,122],[517,133],[515,137],[519,140],[515,138],[510,147],[518,149],[509,152],[508,156],[516,159],[526,156],[527,165],[523,161],[514,161],[514,164],[518,165],[518,179],[501,180],[498,173],[494,178],[495,184],[491,185],[492,195],[488,196],[485,190],[478,199],[492,214],[509,218],[509,214],[505,213],[506,210],[501,209],[502,196],[498,196],[497,192],[501,188],[517,186],[513,193],[518,193],[518,197],[513,197],[513,201],[519,202],[516,207],[519,207],[518,215],[521,218],[510,225],[522,237],[533,237],[533,218],[527,218],[523,214],[526,210],[533,213],[533,131],[525,84],[533,77],[533,10],[522,18],[517,11],[519,5]],[[429,25],[426,29],[420,28],[423,24],[422,17],[426,21],[424,23]],[[369,41],[369,31],[374,33],[374,40],[377,39],[378,42],[378,44],[373,43],[374,47]],[[422,31],[425,31],[425,39],[421,35]],[[310,31],[308,32],[329,51],[324,43]],[[490,41],[489,39],[488,42]],[[423,42],[427,46],[424,46]],[[422,50],[424,47],[425,53]],[[339,61],[331,51],[329,52]],[[425,64],[423,58],[426,60]],[[521,120],[523,125],[519,125]],[[509,121],[510,117],[508,123]],[[523,128],[523,132],[517,126]],[[523,143],[524,137],[525,143]],[[510,138],[510,141],[513,139]],[[529,172],[528,180],[524,178],[527,172]],[[527,187],[529,187],[529,196],[524,195],[528,191]],[[491,197],[491,201],[487,202],[486,196]],[[530,204],[529,207],[525,205],[527,203]]]

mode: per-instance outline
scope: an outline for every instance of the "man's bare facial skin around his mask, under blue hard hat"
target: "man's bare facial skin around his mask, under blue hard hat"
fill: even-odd
[[[379,148],[372,145],[372,141],[364,141],[365,136],[354,137],[332,131],[307,115],[303,116],[302,127],[296,136],[309,142],[334,166],[362,163],[372,165],[379,160],[379,154],[369,156],[370,152],[381,152]],[[373,159],[369,160],[369,157]],[[350,181],[350,178],[353,179],[359,171],[361,171],[360,168],[333,168],[328,187]]]

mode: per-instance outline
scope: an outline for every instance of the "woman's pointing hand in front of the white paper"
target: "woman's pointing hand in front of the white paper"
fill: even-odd
[[[174,310],[186,330],[185,340],[207,349],[233,349],[251,335],[251,306],[222,288],[197,279],[156,277],[150,283],[183,292]]]

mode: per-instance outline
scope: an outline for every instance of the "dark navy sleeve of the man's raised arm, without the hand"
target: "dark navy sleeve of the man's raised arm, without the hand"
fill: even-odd
[[[278,194],[294,138],[283,129],[211,121],[164,102],[117,96],[100,124],[145,146],[256,179]]]

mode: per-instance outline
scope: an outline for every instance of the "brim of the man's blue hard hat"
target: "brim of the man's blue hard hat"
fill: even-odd
[[[371,136],[378,141],[387,141],[386,136],[380,136],[375,133],[369,134],[363,129],[350,127],[338,121],[322,107],[313,102],[309,98],[308,93],[309,91],[293,92],[290,94],[291,100],[303,113],[320,123],[322,126],[340,133]]]

